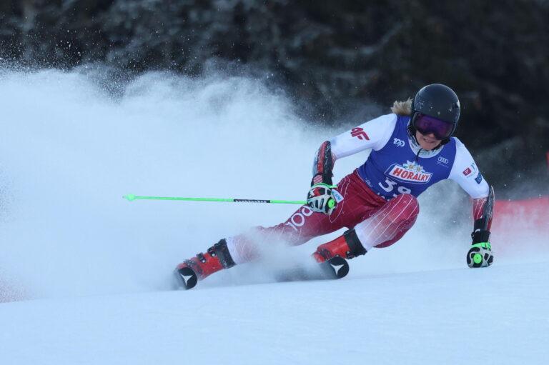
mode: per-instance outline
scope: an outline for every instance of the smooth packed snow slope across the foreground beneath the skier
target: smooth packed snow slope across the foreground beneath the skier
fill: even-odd
[[[0,359],[547,364],[548,274],[545,262],[5,303]]]

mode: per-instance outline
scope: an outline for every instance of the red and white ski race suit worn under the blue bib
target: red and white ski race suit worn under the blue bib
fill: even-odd
[[[355,154],[365,149],[382,149],[390,143],[395,129],[397,116],[387,114],[368,121],[351,131],[336,136],[320,146],[313,166],[314,181],[322,181],[322,176],[330,176],[335,160]],[[360,134],[357,134],[360,131]],[[367,138],[356,138],[357,136]],[[453,138],[453,137],[452,137]],[[437,154],[437,151],[421,150],[412,136],[409,136],[410,148],[418,156]],[[458,141],[459,142],[459,141]],[[443,148],[443,146],[442,146]],[[455,161],[448,179],[457,181],[474,199],[473,219],[480,218],[483,205],[488,196],[489,186],[464,175],[464,169],[476,168],[475,161],[465,146],[459,142]],[[316,181],[319,180],[319,181]],[[285,241],[290,245],[304,244],[310,239],[329,234],[341,228],[355,229],[357,238],[366,250],[372,247],[387,247],[402,238],[417,219],[419,205],[412,194],[399,194],[387,200],[370,189],[357,170],[345,176],[337,191],[343,200],[330,215],[312,211],[302,206],[287,221],[272,227],[256,227],[251,234],[241,234],[227,238],[227,248],[236,264],[242,264],[257,258],[257,241]]]

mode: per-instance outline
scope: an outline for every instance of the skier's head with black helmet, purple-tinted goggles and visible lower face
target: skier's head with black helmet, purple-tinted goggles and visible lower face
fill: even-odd
[[[412,101],[410,134],[422,149],[430,151],[450,141],[460,119],[460,100],[442,84],[422,87]]]

